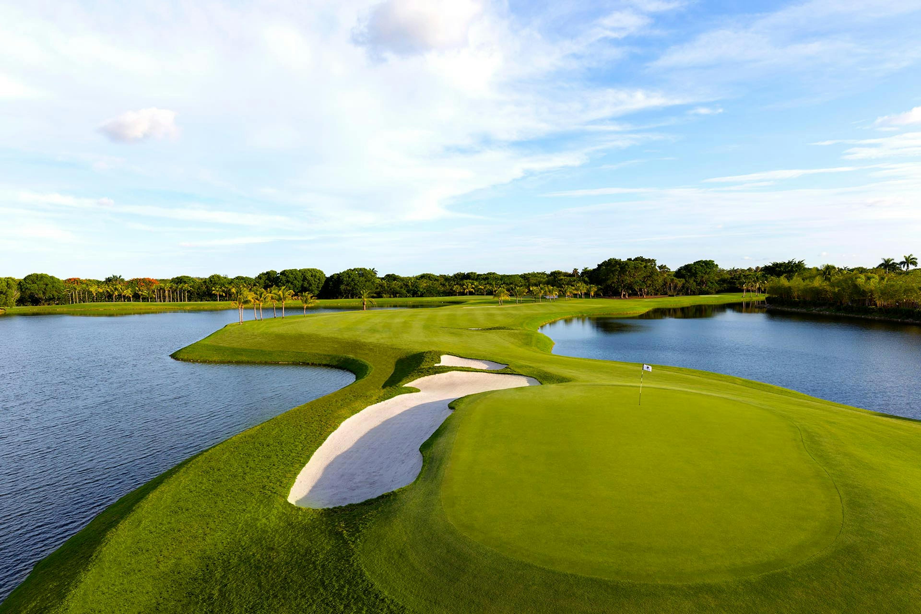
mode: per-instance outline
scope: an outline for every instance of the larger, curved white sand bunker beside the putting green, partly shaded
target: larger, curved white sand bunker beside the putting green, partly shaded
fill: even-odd
[[[340,424],[301,469],[288,501],[301,507],[335,507],[405,486],[419,475],[419,446],[450,415],[452,400],[539,384],[533,377],[500,373],[452,371],[420,377],[407,384],[420,392],[381,401]]]

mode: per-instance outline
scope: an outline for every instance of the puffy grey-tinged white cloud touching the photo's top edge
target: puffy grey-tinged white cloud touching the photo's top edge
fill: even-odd
[[[385,0],[371,8],[354,40],[374,54],[410,55],[467,44],[483,7],[472,0]]]

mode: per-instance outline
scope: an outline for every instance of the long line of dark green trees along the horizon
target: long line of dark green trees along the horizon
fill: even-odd
[[[581,271],[456,272],[402,276],[379,275],[373,268],[352,268],[327,276],[320,269],[266,271],[255,277],[207,277],[180,275],[169,279],[124,279],[110,275],[102,280],[71,277],[58,279],[31,273],[21,280],[0,278],[0,307],[14,305],[60,305],[93,302],[197,302],[242,301],[254,309],[272,302],[269,295],[281,289],[292,293],[285,302],[309,297],[360,298],[364,307],[374,297],[402,298],[448,295],[492,295],[498,301],[544,301],[571,297],[645,297],[655,295],[705,295],[741,292],[743,295],[775,295],[780,300],[829,301],[853,304],[863,301],[874,307],[915,305],[917,259],[887,258],[875,267],[847,269],[826,264],[808,268],[804,261],[775,261],[763,267],[724,269],[716,261],[688,262],[675,270],[655,259],[611,258]],[[860,277],[862,275],[862,277]],[[818,280],[818,281],[817,281]],[[853,281],[853,283],[852,283]],[[810,287],[806,287],[806,286]],[[827,286],[827,287],[826,287]],[[873,289],[867,289],[872,286]],[[883,289],[885,288],[885,289]],[[898,291],[897,288],[900,288]],[[262,293],[266,295],[262,295]],[[912,302],[914,301],[914,303]],[[275,303],[279,299],[275,299]],[[239,307],[239,305],[238,305]],[[284,308],[284,307],[283,307]]]

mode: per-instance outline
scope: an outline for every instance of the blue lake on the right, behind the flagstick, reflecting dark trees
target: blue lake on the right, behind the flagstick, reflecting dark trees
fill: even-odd
[[[565,319],[541,332],[567,356],[702,369],[921,419],[921,326],[732,305]]]

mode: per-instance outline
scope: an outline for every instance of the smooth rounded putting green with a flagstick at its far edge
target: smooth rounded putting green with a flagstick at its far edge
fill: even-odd
[[[841,527],[834,482],[787,419],[666,389],[497,392],[461,423],[450,522],[499,552],[610,579],[697,582],[803,561]]]

